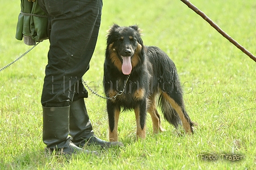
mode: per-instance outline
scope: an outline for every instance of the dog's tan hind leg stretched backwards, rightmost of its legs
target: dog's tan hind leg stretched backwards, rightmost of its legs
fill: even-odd
[[[184,111],[184,108],[182,108],[172,97],[170,97],[167,93],[162,92],[162,96],[167,100],[173,109],[178,113],[179,118],[182,121],[184,130],[187,134],[192,134],[192,125],[193,122],[188,117],[187,113]]]

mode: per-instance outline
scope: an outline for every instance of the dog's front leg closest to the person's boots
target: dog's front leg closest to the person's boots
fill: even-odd
[[[110,142],[117,142],[118,135],[117,135],[117,126],[120,114],[120,108],[116,105],[108,101],[107,103],[107,112],[108,112],[108,125],[109,125],[109,139]]]

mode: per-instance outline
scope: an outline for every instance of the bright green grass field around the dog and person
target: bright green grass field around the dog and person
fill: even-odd
[[[191,2],[256,54],[255,0]],[[0,67],[30,48],[15,39],[19,3],[1,2]],[[45,40],[0,73],[0,169],[256,169],[256,63],[181,1],[103,3],[98,43],[83,78],[103,95],[106,30],[113,23],[139,24],[144,44],[159,46],[175,62],[188,114],[199,124],[195,134],[181,137],[162,120],[167,131],[154,135],[148,116],[146,139],[136,141],[135,114],[124,112],[119,123],[123,148],[87,148],[99,151],[99,157],[45,154],[40,104]],[[86,105],[96,135],[107,140],[106,101],[90,94]]]

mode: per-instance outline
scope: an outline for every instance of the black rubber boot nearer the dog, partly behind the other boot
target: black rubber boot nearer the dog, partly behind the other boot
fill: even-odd
[[[70,132],[76,146],[96,145],[102,148],[124,146],[121,142],[107,142],[94,135],[93,127],[86,111],[85,101],[79,99],[70,104]]]

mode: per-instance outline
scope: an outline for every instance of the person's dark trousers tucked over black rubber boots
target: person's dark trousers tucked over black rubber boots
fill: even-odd
[[[48,64],[41,104],[66,107],[87,97],[82,76],[98,38],[102,0],[39,0],[49,14]]]

